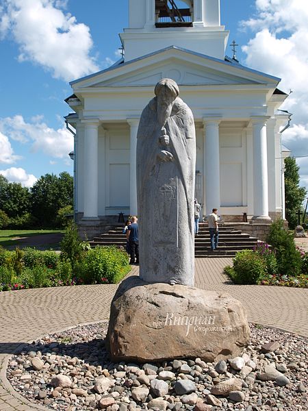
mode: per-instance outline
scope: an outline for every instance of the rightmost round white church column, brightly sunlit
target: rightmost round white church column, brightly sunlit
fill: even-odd
[[[253,220],[270,220],[268,216],[268,153],[266,116],[251,117],[253,125]]]

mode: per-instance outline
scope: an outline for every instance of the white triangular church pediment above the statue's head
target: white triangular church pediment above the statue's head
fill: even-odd
[[[77,88],[153,86],[171,78],[179,85],[277,84],[279,79],[205,55],[171,47],[77,80]]]

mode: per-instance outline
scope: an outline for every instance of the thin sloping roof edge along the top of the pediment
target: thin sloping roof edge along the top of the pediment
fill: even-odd
[[[116,70],[116,69],[118,69],[118,68],[120,68],[120,67],[129,66],[130,64],[139,62],[140,60],[144,60],[144,59],[146,59],[146,58],[150,58],[150,57],[152,57],[152,56],[154,56],[154,55],[157,55],[157,54],[160,54],[160,53],[164,53],[164,52],[166,52],[166,51],[168,51],[168,50],[172,50],[172,49],[173,49],[173,50],[182,51],[183,53],[188,53],[188,54],[190,54],[190,55],[195,55],[195,56],[198,56],[199,58],[205,58],[205,59],[210,60],[210,61],[212,61],[212,62],[224,64],[225,66],[230,66],[230,65],[232,65],[232,66],[235,67],[236,69],[240,69],[240,70],[242,70],[242,71],[246,71],[246,72],[252,73],[252,74],[255,73],[256,75],[265,76],[265,77],[268,77],[269,79],[272,79],[272,80],[274,80],[274,81],[276,81],[276,82],[280,82],[280,80],[281,80],[279,77],[274,77],[274,76],[272,76],[272,75],[268,75],[268,74],[266,74],[266,73],[262,73],[261,71],[257,71],[257,70],[253,70],[253,69],[248,69],[248,67],[242,66],[242,64],[236,62],[235,60],[233,60],[233,59],[231,59],[231,58],[228,58],[227,56],[226,56],[226,58],[225,58],[224,60],[220,60],[220,59],[218,59],[218,58],[214,58],[214,57],[211,57],[211,56],[209,56],[209,55],[205,55],[205,54],[201,54],[201,53],[196,53],[195,51],[191,51],[191,50],[188,50],[188,49],[183,49],[182,47],[170,46],[170,47],[166,47],[166,48],[164,48],[164,49],[160,49],[160,50],[158,50],[158,51],[154,51],[153,53],[149,53],[149,54],[146,54],[146,55],[142,55],[142,57],[139,57],[139,58],[136,58],[136,59],[133,59],[133,60],[129,60],[128,62],[125,62],[125,60],[124,60],[123,58],[121,58],[120,60],[118,60],[118,62],[114,63],[112,66],[108,67],[107,69],[104,69],[104,70],[98,71],[97,73],[92,73],[92,74],[87,75],[87,76],[85,76],[85,77],[81,77],[81,78],[79,78],[79,79],[73,80],[72,82],[70,82],[70,86],[73,86],[73,85],[75,85],[75,84],[77,84],[77,83],[79,83],[79,82],[83,82],[83,81],[86,80],[86,79],[91,79],[92,77],[96,77],[97,75],[101,75],[102,73],[107,73],[107,72],[110,72],[110,71],[114,71],[114,70]]]

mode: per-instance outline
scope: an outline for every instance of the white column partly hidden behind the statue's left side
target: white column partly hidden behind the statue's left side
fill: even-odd
[[[137,150],[137,132],[139,119],[127,119],[131,127],[131,144],[130,144],[130,172],[129,172],[129,214],[136,216],[138,214],[137,205],[137,179],[136,179],[136,150]]]

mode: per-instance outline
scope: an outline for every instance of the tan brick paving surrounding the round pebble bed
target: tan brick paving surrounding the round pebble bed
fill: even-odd
[[[229,292],[242,301],[248,321],[308,336],[308,290],[235,286],[222,274],[231,258],[196,259],[196,286]],[[134,266],[131,275],[138,275]],[[5,379],[8,354],[43,334],[109,317],[116,285],[42,288],[0,293],[0,410],[47,410],[28,403]]]

